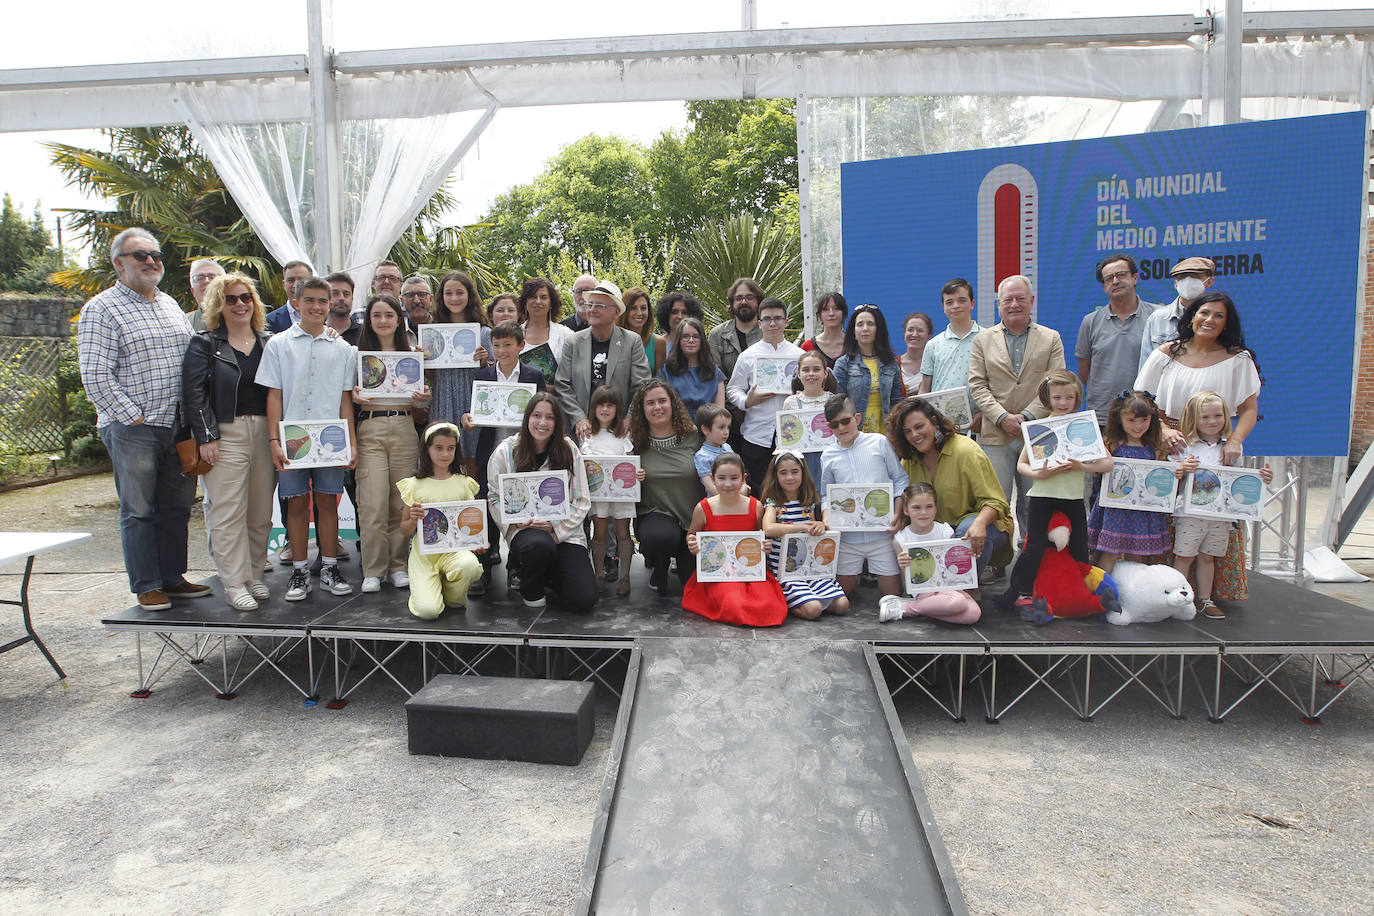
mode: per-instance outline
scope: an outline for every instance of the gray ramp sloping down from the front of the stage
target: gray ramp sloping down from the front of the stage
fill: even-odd
[[[868,647],[644,640],[625,687],[578,909],[966,912]]]

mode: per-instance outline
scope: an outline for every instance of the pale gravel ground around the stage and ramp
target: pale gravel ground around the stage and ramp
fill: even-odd
[[[0,911],[570,909],[613,702],[565,768],[411,757],[385,683],[331,711],[276,678],[221,702],[183,666],[131,699],[133,639],[98,622],[131,604],[117,511],[107,475],[0,494],[5,529],[96,536],[38,560],[66,681],[32,647],[0,656]],[[198,519],[191,544],[207,575]],[[1327,591],[1374,606],[1370,585]],[[977,696],[966,724],[897,696],[973,912],[1374,912],[1374,691],[1320,725],[1271,695],[1209,724],[1189,691],[1184,721],[1134,691],[1080,722],[1040,691],[1000,725]]]

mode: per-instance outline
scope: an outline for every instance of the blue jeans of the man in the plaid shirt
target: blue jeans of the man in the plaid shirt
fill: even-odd
[[[100,441],[114,464],[120,496],[120,544],[135,595],[177,585],[185,577],[185,538],[195,478],[181,477],[172,430],[113,422]]]

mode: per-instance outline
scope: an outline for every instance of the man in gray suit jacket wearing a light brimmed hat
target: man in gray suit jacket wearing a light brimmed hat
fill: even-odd
[[[631,393],[649,378],[644,342],[633,331],[616,325],[624,310],[620,287],[602,280],[587,294],[587,327],[563,343],[554,390],[578,439],[591,435],[587,413],[592,391],[609,385],[628,405]]]

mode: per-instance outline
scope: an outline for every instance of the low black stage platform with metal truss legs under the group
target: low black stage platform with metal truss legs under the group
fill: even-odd
[[[349,581],[361,581],[356,563]],[[212,597],[177,602],[169,611],[133,607],[103,618],[137,640],[139,683],[147,696],[184,665],[217,696],[234,698],[256,676],[275,673],[306,705],[322,695],[342,706],[364,683],[389,680],[405,695],[434,673],[503,673],[594,680],[618,694],[629,651],[654,640],[852,640],[872,647],[893,695],[921,694],[963,720],[970,696],[995,722],[1035,691],[1047,691],[1079,718],[1092,718],[1123,694],[1145,692],[1171,715],[1197,696],[1221,721],[1260,691],[1275,691],[1318,721],[1356,684],[1374,684],[1374,612],[1252,574],[1250,600],[1227,619],[1195,618],[1134,626],[1103,619],[1033,626],[989,614],[976,626],[925,619],[877,621],[877,593],[861,589],[846,617],[789,619],[745,629],[684,612],[649,589],[636,564],[632,593],[607,593],[589,615],[526,608],[508,596],[497,570],[488,596],[436,621],[411,617],[407,593],[335,597],[317,588],[298,603],[280,599],[286,573],[268,574],[273,592],[258,611],[228,608],[216,580]],[[611,591],[614,586],[611,586]],[[151,643],[151,645],[148,645]],[[1191,687],[1190,687],[1191,683]],[[322,691],[322,687],[324,688]]]

